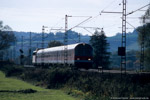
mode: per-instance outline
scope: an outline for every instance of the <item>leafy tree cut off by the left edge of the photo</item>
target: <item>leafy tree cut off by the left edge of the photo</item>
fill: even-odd
[[[3,26],[0,21],[0,51],[9,48],[15,39],[12,29],[8,25]]]

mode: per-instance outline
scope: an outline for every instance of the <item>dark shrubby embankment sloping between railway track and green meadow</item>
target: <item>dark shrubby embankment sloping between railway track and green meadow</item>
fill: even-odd
[[[70,70],[67,67],[25,69],[22,66],[8,65],[0,69],[5,72],[7,77],[16,77],[36,86],[49,88],[50,91],[63,89],[67,94],[82,100],[110,100],[111,97],[150,97],[150,74],[124,74],[121,78],[120,74],[82,72]],[[19,82],[15,83],[18,84]],[[19,87],[19,85],[17,86]],[[40,93],[43,93],[45,90],[43,92],[37,91],[39,91],[36,92],[39,93],[37,95],[40,96]],[[58,97],[55,94],[59,94],[57,92],[46,92],[48,94],[52,93],[54,97],[47,98],[50,98],[49,100],[63,100],[64,97],[55,99],[55,97]],[[46,93],[41,95],[44,97]],[[43,97],[41,100],[46,100]],[[39,97],[37,98],[36,100],[39,100]],[[26,100],[30,99],[26,98]]]

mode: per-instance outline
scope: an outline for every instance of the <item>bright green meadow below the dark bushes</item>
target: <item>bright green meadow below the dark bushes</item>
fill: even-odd
[[[0,100],[77,100],[61,90],[49,90],[33,86],[21,80],[6,78],[0,71],[0,91],[33,89],[35,93],[0,92]]]

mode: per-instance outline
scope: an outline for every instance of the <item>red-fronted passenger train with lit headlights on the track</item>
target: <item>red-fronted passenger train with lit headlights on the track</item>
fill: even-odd
[[[65,49],[67,47],[67,49]],[[65,60],[67,50],[67,60]],[[65,62],[66,61],[66,62]],[[89,69],[93,65],[93,48],[87,43],[76,43],[33,51],[34,66],[65,65]]]

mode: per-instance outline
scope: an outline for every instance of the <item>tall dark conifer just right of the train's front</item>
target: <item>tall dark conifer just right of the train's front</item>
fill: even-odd
[[[94,67],[102,66],[104,69],[108,69],[110,61],[110,52],[108,52],[108,46],[104,31],[95,31],[91,36],[90,43],[94,49]]]

